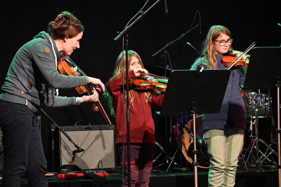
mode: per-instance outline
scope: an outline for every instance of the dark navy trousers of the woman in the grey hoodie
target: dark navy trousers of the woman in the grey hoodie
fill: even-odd
[[[48,186],[46,158],[34,113],[25,105],[0,100],[4,147],[3,187],[19,187],[26,174],[29,186]]]

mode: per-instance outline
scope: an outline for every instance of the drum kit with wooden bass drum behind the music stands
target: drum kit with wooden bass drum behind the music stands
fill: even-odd
[[[267,94],[260,93],[260,92],[247,92],[246,95],[243,95],[244,107],[245,107],[245,114],[247,118],[247,124],[249,129],[244,136],[249,136],[250,145],[248,147],[245,146],[245,137],[244,137],[244,146],[239,157],[240,166],[247,169],[249,167],[261,167],[264,161],[272,162],[272,165],[276,165],[273,160],[270,160],[269,156],[272,154],[277,156],[277,153],[272,149],[271,144],[267,144],[264,140],[259,138],[258,135],[258,118],[268,118],[270,116],[270,98]],[[175,158],[175,154],[178,150],[181,151],[182,155],[186,159],[187,163],[192,165],[193,160],[193,119],[191,115],[182,115],[182,116],[174,116],[177,119],[176,124],[174,124],[171,128],[171,137],[170,137],[170,144],[177,144],[177,150],[175,151],[173,157],[169,157],[171,163],[176,164],[173,160]],[[181,122],[180,122],[181,121]],[[199,115],[195,118],[196,123],[196,139],[203,140],[204,132],[202,131],[202,115]],[[262,143],[266,146],[266,150],[262,152],[259,149],[259,144]],[[271,142],[272,143],[272,142]],[[198,145],[198,168],[202,170],[207,170],[209,168],[209,157],[207,153],[207,145],[205,143]],[[158,145],[160,148],[161,145]],[[165,153],[165,150],[161,149],[162,153]],[[160,154],[160,155],[161,155]],[[158,155],[157,158],[159,158]],[[259,156],[260,155],[260,156]],[[155,162],[154,160],[154,162]],[[171,166],[169,164],[169,167]],[[168,167],[168,169],[169,169]],[[168,170],[167,169],[167,170]]]

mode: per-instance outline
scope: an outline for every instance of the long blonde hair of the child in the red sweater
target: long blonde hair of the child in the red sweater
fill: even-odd
[[[133,51],[133,50],[128,50],[128,63],[130,64],[133,56],[136,57],[139,60],[139,62],[141,64],[141,67],[144,68],[140,55],[138,55],[138,53],[136,51]],[[113,76],[115,77],[116,75],[119,75],[119,74],[123,73],[124,70],[126,70],[126,51],[122,51],[119,54],[119,56],[116,60],[116,66],[115,66]],[[134,89],[129,90],[130,106],[132,106],[132,107],[133,107],[132,103],[133,103],[133,100],[135,98],[134,92],[135,92]],[[148,103],[151,100],[151,91],[145,91],[144,95],[145,95],[145,98],[146,98],[146,102]],[[126,102],[126,100],[127,100],[127,94],[126,94],[126,90],[124,90],[124,101]]]

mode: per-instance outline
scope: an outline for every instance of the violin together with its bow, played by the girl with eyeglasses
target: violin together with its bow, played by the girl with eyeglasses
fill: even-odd
[[[250,49],[252,49],[256,45],[255,42],[253,42],[243,53],[237,52],[236,55],[224,55],[222,57],[222,63],[227,66],[226,69],[230,69],[233,66],[237,65],[245,65],[246,66],[246,61],[249,63],[249,58],[248,55],[246,54]],[[237,57],[238,56],[238,57]],[[247,65],[248,66],[248,65]],[[246,67],[247,67],[246,66]]]

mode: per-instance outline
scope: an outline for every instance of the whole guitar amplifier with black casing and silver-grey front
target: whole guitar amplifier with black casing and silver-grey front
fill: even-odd
[[[115,125],[62,126],[77,147],[59,131],[60,166],[75,164],[82,169],[115,172]]]

